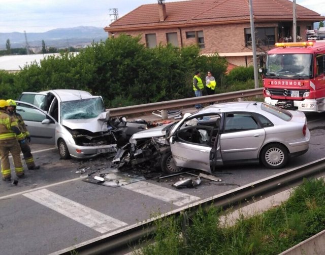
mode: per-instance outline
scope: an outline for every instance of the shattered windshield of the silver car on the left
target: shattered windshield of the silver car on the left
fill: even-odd
[[[61,102],[61,119],[89,119],[105,112],[100,97]]]

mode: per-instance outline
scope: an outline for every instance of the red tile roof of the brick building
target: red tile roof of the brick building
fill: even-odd
[[[142,5],[112,22],[105,31],[249,22],[248,0],[191,0],[166,3],[167,18],[159,21],[158,4]],[[293,2],[288,0],[253,0],[254,20],[292,21]],[[296,5],[297,21],[321,21],[325,17]]]

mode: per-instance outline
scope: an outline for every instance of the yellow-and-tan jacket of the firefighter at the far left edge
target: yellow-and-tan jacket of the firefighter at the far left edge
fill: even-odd
[[[0,143],[12,139],[23,140],[17,121],[9,116],[5,110],[0,110]]]

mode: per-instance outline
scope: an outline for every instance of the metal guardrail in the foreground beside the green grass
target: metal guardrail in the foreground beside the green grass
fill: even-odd
[[[316,178],[325,173],[325,158],[315,160],[311,163],[289,169],[280,174],[273,175],[237,189],[224,192],[222,194],[194,202],[188,206],[170,211],[164,215],[149,219],[145,223],[138,223],[126,228],[108,233],[105,236],[94,238],[86,242],[77,244],[64,250],[60,250],[50,255],[71,255],[74,252],[83,254],[124,254],[144,244],[146,238],[154,235],[155,221],[162,217],[180,215],[182,213],[192,214],[199,207],[209,207],[212,204],[223,209],[230,207],[241,207],[253,203],[291,187],[295,187],[303,182],[304,178]],[[261,198],[263,196],[263,198]]]

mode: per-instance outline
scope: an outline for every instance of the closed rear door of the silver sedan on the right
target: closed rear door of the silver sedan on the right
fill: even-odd
[[[264,140],[265,131],[253,114],[226,113],[220,135],[222,161],[256,159]]]

